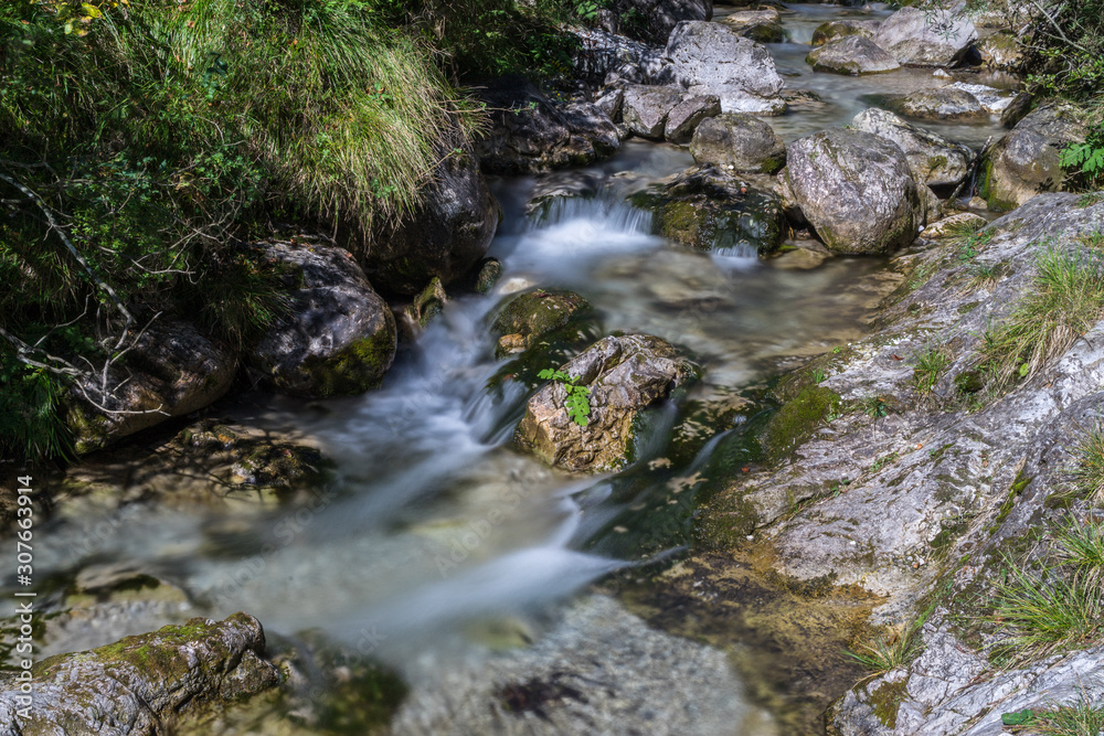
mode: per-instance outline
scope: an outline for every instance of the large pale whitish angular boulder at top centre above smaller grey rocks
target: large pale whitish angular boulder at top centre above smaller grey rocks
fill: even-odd
[[[696,94],[716,95],[724,113],[786,109],[771,53],[720,23],[679,23],[667,42],[667,73]]]

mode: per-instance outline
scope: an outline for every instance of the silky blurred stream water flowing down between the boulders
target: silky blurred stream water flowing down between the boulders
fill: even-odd
[[[725,12],[718,8],[719,17]],[[788,87],[825,100],[771,120],[786,140],[848,122],[868,106],[864,95],[938,84],[930,70],[814,74],[804,63],[811,30],[856,14],[887,11],[795,4],[784,15],[790,42],[769,44],[779,71]],[[931,127],[972,146],[998,130],[992,120]],[[403,670],[427,652],[480,646],[473,622],[539,611],[612,570],[686,544],[692,498],[676,498],[672,481],[705,467],[715,438],[681,467],[650,462],[670,447],[675,409],[660,407],[634,466],[570,476],[512,447],[526,390],[510,381],[500,391],[487,386],[503,366],[489,319],[507,292],[529,286],[580,292],[603,333],[644,332],[689,350],[704,367],[691,395],[699,401],[728,396],[739,405],[740,388],[779,361],[862,334],[883,268],[878,259],[810,263],[798,249],[763,260],[740,250],[698,253],[651,235],[649,215],[625,198],[691,164],[684,149],[630,140],[585,170],[497,181],[506,212],[490,252],[503,264],[497,294],[450,301],[379,391],[237,409],[317,442],[337,462],[332,487],[306,504],[242,504],[229,513],[134,504],[109,535],[95,530],[118,511],[95,499],[74,501],[39,532],[49,541],[36,551],[43,568],[64,577],[125,561],[173,583],[190,602],[131,611],[121,625],[73,623],[47,649],[96,647],[189,616],[246,610],[285,637],[312,631],[349,644],[368,637],[373,655]],[[555,200],[528,215],[534,188],[556,184],[594,196]],[[732,422],[744,418],[737,412]]]

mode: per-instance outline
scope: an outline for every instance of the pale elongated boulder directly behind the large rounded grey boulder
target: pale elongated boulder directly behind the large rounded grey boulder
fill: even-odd
[[[913,179],[921,183],[957,184],[974,162],[974,151],[967,146],[905,122],[888,110],[871,107],[856,115],[851,125],[900,146],[909,159]]]

